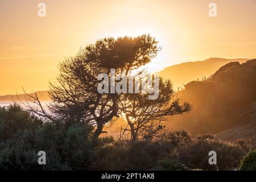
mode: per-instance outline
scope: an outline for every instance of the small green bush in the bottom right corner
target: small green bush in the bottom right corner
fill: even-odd
[[[251,150],[243,157],[239,169],[242,171],[256,171],[256,150]]]

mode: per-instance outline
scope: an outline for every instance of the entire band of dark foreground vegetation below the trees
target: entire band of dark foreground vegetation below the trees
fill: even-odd
[[[210,150],[217,152],[218,169],[227,170],[238,168],[246,152],[255,147],[241,141],[225,142],[213,135],[192,137],[187,131],[168,133],[154,142],[99,138],[93,146],[91,127],[42,122],[18,105],[0,109],[0,126],[3,170],[215,170],[216,166],[208,163]],[[46,165],[38,164],[40,150],[46,151]],[[244,158],[242,166],[255,165],[255,155],[247,161]]]

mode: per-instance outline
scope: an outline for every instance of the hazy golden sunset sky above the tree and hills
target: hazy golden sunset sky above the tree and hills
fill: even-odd
[[[210,2],[217,17],[208,15]],[[163,48],[151,72],[209,57],[255,58],[255,17],[255,0],[0,0],[0,95],[46,90],[59,61],[105,36],[155,36]]]

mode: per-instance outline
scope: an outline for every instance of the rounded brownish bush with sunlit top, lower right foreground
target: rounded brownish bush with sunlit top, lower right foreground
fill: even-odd
[[[229,143],[213,135],[199,135],[191,142],[179,146],[177,160],[189,168],[207,170],[236,169],[245,151],[234,143]],[[217,153],[217,167],[208,163],[209,151]]]

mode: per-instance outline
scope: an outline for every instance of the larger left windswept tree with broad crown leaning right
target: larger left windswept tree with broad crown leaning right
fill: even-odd
[[[105,38],[80,49],[76,56],[65,59],[59,64],[60,75],[55,83],[51,83],[49,90],[53,101],[49,109],[55,115],[55,121],[67,125],[73,122],[89,123],[95,127],[96,139],[104,125],[121,114],[119,95],[98,93],[97,76],[100,73],[110,76],[110,69],[115,69],[117,74],[128,75],[150,63],[160,49],[157,44],[150,35]],[[35,98],[30,97],[31,100]],[[31,110],[39,113],[35,108]]]

